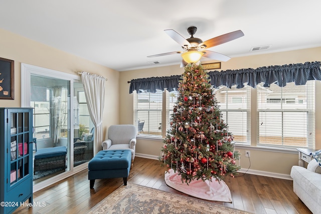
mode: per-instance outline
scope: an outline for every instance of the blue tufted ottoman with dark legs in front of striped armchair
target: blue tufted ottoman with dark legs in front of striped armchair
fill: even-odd
[[[88,180],[90,188],[94,187],[95,179],[122,177],[127,185],[131,163],[130,150],[99,151],[88,163]]]

